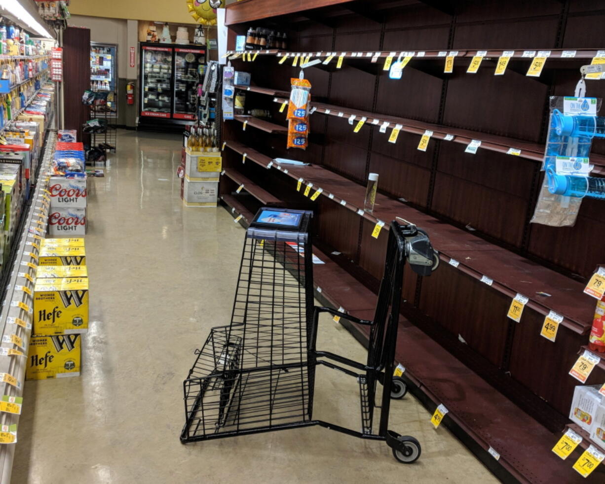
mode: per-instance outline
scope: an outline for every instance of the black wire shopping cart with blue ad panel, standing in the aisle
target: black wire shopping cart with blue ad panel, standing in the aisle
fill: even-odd
[[[385,440],[397,460],[414,462],[419,442],[387,428],[390,398],[402,398],[407,390],[392,376],[399,305],[405,260],[428,276],[437,267],[437,252],[424,231],[392,222],[374,320],[314,308],[311,218],[310,211],[260,208],[247,228],[231,324],[211,330],[183,382],[181,442],[320,425]],[[316,349],[322,312],[369,326],[365,363]],[[361,431],[313,419],[318,365],[357,379]],[[381,407],[374,398],[377,383]]]

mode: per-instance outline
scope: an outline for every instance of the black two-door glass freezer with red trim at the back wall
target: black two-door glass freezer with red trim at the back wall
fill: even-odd
[[[142,42],[140,59],[139,124],[182,125],[197,120],[198,85],[204,79],[206,50]]]

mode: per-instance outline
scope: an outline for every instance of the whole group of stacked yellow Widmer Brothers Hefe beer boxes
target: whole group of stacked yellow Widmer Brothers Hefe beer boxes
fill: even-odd
[[[79,376],[89,301],[83,238],[41,240],[33,298],[25,378]]]

